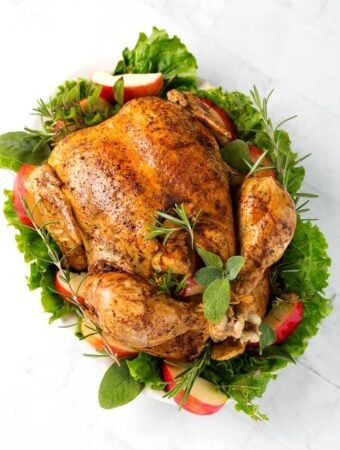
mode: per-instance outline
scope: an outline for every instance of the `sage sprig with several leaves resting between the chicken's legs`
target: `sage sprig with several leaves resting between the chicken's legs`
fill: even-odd
[[[203,293],[204,315],[212,323],[220,322],[230,303],[230,281],[234,280],[244,265],[243,256],[231,256],[223,269],[218,255],[204,249],[197,249],[207,267],[195,273],[195,280],[206,286]]]

